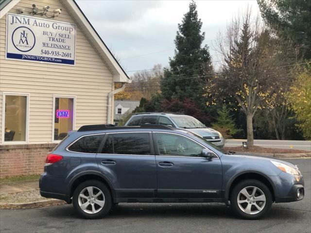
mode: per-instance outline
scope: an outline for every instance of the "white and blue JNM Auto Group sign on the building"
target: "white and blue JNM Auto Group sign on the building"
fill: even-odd
[[[6,58],[74,65],[76,25],[7,14]]]

